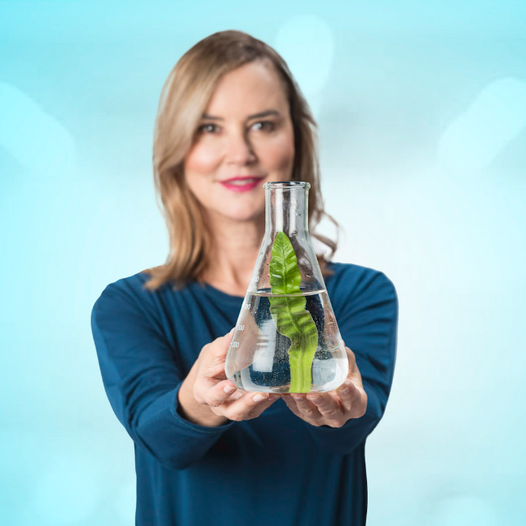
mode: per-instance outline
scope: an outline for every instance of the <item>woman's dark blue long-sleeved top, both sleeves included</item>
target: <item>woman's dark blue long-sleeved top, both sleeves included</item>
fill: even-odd
[[[197,282],[151,292],[142,272],[104,289],[91,323],[106,393],[135,444],[136,524],[365,524],[365,440],[391,389],[398,298],[382,272],[330,268],[327,292],[368,396],[366,414],[339,429],[304,422],[281,399],[253,420],[187,421],[178,389],[202,347],[234,327],[244,298]]]

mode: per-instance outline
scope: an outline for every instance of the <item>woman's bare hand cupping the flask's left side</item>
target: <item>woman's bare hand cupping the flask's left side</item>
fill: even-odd
[[[179,390],[184,416],[208,427],[257,418],[279,395],[241,392],[226,379],[225,361],[233,330],[205,345]]]

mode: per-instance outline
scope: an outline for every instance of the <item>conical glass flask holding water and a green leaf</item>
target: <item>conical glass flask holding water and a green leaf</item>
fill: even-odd
[[[239,389],[325,392],[349,362],[308,230],[310,183],[268,182],[265,236],[225,371]]]

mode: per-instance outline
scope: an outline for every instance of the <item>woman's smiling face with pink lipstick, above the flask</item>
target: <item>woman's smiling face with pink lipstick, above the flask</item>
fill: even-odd
[[[184,162],[186,182],[211,218],[259,219],[263,183],[290,180],[293,162],[289,104],[273,66],[256,61],[225,74]],[[234,178],[243,179],[227,183]]]

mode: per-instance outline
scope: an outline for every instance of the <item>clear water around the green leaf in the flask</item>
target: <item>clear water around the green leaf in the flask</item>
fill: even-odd
[[[227,377],[246,391],[290,392],[288,349],[291,341],[276,329],[270,313],[272,296],[247,293],[228,351]],[[305,297],[305,309],[318,330],[311,391],[331,391],[344,382],[349,365],[329,296],[321,290],[289,297],[298,296]]]

